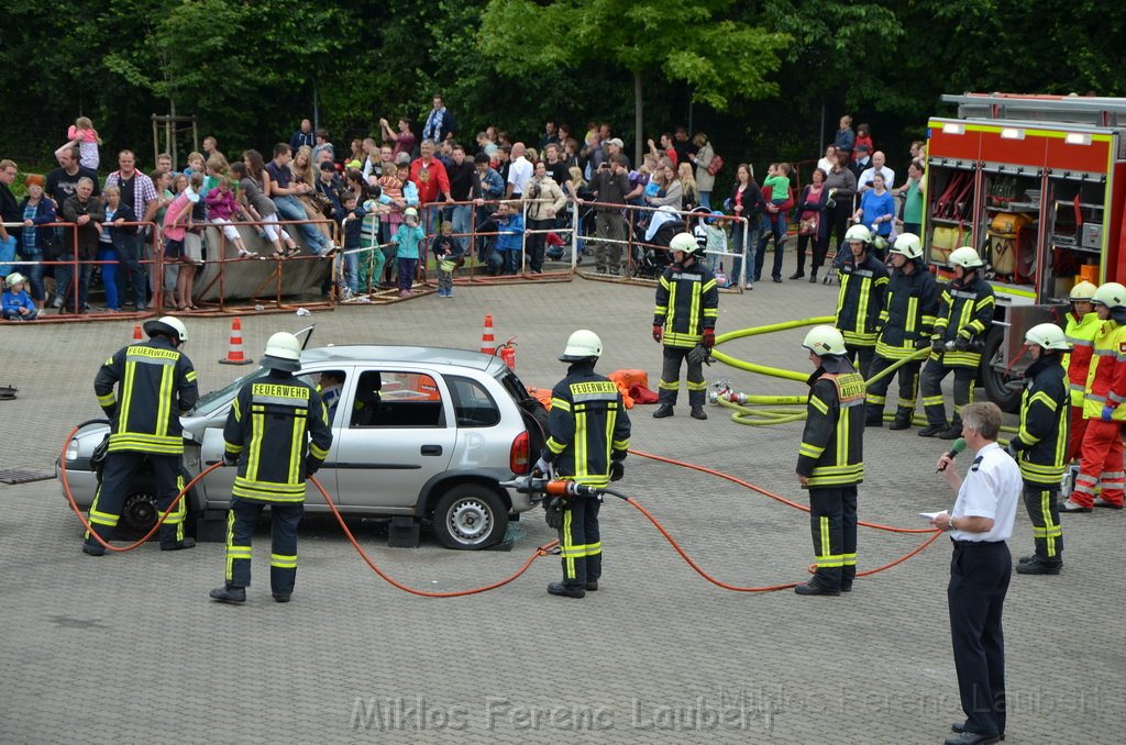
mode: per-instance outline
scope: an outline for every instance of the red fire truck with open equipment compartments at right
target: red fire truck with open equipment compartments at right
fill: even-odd
[[[1075,282],[1126,282],[1126,98],[942,96],[956,118],[928,123],[922,235],[940,280],[962,245],[997,293],[981,378],[1016,411],[1009,385],[1030,363],[1025,332],[1063,324]]]

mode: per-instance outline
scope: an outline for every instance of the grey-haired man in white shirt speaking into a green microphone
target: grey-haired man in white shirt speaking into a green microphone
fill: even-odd
[[[997,404],[969,404],[962,411],[962,436],[977,451],[965,481],[950,454],[938,468],[958,492],[954,510],[931,520],[950,531],[954,556],[947,603],[958,694],[966,720],[955,722],[956,736],[946,745],[984,745],[1004,738],[1004,636],[1001,612],[1012,575],[1012,556],[1006,540],[1020,501],[1021,476],[1017,463],[997,443],[1001,410]]]

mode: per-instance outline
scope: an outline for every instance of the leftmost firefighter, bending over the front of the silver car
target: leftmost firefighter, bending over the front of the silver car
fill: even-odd
[[[196,371],[179,349],[188,341],[188,330],[172,316],[148,321],[144,330],[149,341],[123,347],[106,360],[93,380],[98,404],[110,422],[102,481],[90,505],[90,527],[105,541],[113,538],[125,495],[145,461],[157,482],[161,513],[184,488],[180,415],[199,400]],[[184,537],[186,514],[185,500],[180,500],[160,527],[161,550],[196,545]],[[101,556],[105,550],[88,531],[82,551]]]

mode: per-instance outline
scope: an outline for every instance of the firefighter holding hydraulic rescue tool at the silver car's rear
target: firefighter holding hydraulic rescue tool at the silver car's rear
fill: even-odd
[[[566,377],[552,389],[548,438],[536,472],[555,478],[605,488],[625,473],[629,448],[629,416],[613,380],[595,372],[602,341],[593,331],[571,334],[560,361],[570,362]],[[558,527],[563,582],[547,592],[582,598],[598,590],[602,575],[602,542],[598,530],[597,496],[569,496]]]

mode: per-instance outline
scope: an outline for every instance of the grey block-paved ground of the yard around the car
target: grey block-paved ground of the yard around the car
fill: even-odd
[[[720,330],[832,312],[834,288],[759,284],[724,295]],[[385,307],[316,313],[314,343],[428,343],[475,349],[491,313],[500,340],[516,336],[526,384],[551,386],[568,334],[601,334],[599,369],[644,368],[652,387],[660,349],[650,336],[653,289],[575,279],[462,288]],[[257,356],[293,315],[243,317]],[[187,320],[186,348],[200,386],[243,369],[215,361],[230,322]],[[132,323],[5,326],[0,384],[3,468],[48,472],[63,437],[97,416],[98,366],[129,340]],[[804,331],[740,340],[724,351],[806,370]],[[745,392],[804,386],[716,366]],[[632,412],[637,450],[729,473],[805,502],[794,477],[801,424],[750,428],[718,409],[672,419]],[[887,429],[866,433],[860,519],[919,528],[920,511],[954,502],[933,464],[942,443]],[[959,459],[965,468],[968,456]],[[718,578],[739,585],[804,581],[812,562],[802,512],[731,482],[631,457],[619,486],[636,496]],[[334,522],[302,526],[296,592],[271,602],[263,584],[268,537],[256,537],[257,581],[244,607],[211,602],[223,547],[161,554],[154,545],[90,558],[80,524],[43,481],[0,486],[0,742],[751,742],[940,743],[960,718],[949,641],[949,541],[850,595],[786,590],[727,592],[695,574],[640,513],[604,511],[605,575],[584,600],[552,598],[560,575],[543,558],[518,581],[454,600],[415,598],[379,580]],[[1060,576],[1013,575],[1006,604],[1008,743],[1120,743],[1126,720],[1126,514],[1064,518]],[[351,523],[375,560],[426,590],[495,581],[552,538],[539,512],[513,530],[510,553],[453,553],[432,536],[390,549],[378,529]],[[892,562],[927,536],[861,529],[860,569]],[[1011,541],[1030,553],[1024,509]]]

